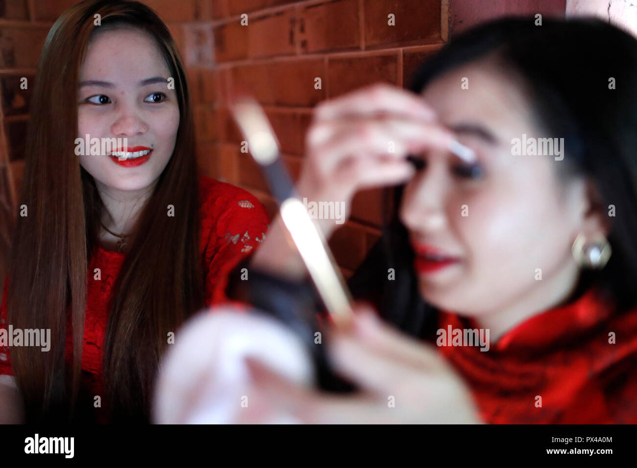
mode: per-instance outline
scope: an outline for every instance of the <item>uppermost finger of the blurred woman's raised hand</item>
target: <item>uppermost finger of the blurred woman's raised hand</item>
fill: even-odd
[[[433,120],[434,110],[422,97],[385,83],[377,83],[336,99],[324,101],[314,108],[314,119],[329,120],[342,115],[396,113],[422,120]]]

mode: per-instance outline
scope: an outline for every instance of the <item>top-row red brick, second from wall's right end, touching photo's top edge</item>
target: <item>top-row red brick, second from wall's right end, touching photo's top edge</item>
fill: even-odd
[[[340,0],[301,9],[299,39],[304,53],[359,48],[357,0]]]

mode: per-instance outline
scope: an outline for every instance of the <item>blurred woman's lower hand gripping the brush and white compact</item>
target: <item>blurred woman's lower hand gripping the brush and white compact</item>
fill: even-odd
[[[250,360],[255,405],[239,422],[268,413],[304,423],[481,422],[468,389],[435,348],[391,329],[373,311],[359,306],[352,329],[329,338],[334,369],[356,383],[360,394],[294,385]]]

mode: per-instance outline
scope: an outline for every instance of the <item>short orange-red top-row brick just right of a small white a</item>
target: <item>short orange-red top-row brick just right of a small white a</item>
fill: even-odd
[[[271,15],[248,20],[248,56],[271,57],[293,55],[294,14],[292,10],[278,11]]]

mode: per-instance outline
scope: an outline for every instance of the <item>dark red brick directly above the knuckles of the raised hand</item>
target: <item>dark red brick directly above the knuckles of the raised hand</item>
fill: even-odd
[[[329,97],[376,82],[396,85],[397,80],[396,53],[329,59]]]

